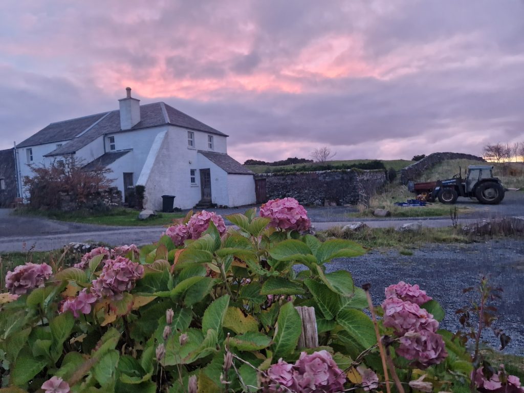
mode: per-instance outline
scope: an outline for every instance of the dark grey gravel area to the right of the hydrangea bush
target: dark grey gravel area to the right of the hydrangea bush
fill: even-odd
[[[355,285],[372,284],[376,304],[384,300],[384,288],[404,280],[420,287],[445,309],[441,326],[451,331],[460,328],[455,310],[467,304],[474,292],[462,293],[475,286],[486,275],[494,287],[503,288],[503,298],[494,303],[498,308],[497,328],[511,337],[504,350],[524,356],[524,241],[504,239],[467,245],[431,244],[413,250],[412,256],[396,250],[373,252],[358,258],[341,258],[328,265],[328,270],[350,271]],[[500,343],[492,331],[483,339],[494,348]]]

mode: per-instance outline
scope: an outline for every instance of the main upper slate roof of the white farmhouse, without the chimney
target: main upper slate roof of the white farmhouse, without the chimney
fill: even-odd
[[[30,136],[17,147],[42,145],[46,143],[67,141],[62,146],[49,152],[46,156],[72,154],[105,134],[115,134],[141,128],[173,125],[203,131],[209,134],[227,136],[195,118],[180,112],[163,102],[140,105],[140,122],[129,130],[120,128],[120,111],[110,111],[95,115],[79,117],[63,122],[51,123],[35,135]]]

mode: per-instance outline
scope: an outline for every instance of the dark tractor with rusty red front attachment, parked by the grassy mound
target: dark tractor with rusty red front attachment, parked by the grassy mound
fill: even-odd
[[[467,176],[462,169],[453,178],[425,183],[408,183],[408,190],[418,199],[441,203],[455,203],[459,196],[476,198],[480,203],[495,205],[504,199],[505,189],[498,178],[493,177],[493,165],[470,165]]]

